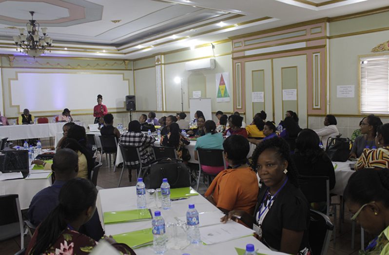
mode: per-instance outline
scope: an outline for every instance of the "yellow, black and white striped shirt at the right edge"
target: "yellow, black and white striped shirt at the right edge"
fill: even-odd
[[[363,168],[389,168],[389,147],[365,149],[355,164],[355,170]]]

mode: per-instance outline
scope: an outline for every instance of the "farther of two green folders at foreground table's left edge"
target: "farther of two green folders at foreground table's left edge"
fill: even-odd
[[[105,212],[103,214],[104,224],[128,222],[128,221],[140,221],[152,219],[152,215],[149,209],[135,209],[128,211],[117,212]]]

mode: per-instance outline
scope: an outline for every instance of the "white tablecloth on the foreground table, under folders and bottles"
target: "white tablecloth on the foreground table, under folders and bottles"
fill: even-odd
[[[191,196],[185,200],[172,201],[172,209],[168,211],[160,210],[162,216],[165,219],[165,222],[176,222],[174,217],[185,216],[186,211],[188,210],[188,204],[194,204],[199,213],[219,211],[219,209],[212,205],[203,196]],[[104,212],[136,209],[136,188],[133,186],[100,190],[97,195],[96,207],[101,222],[103,222],[102,215]],[[154,215],[154,212],[157,209],[150,209]],[[151,227],[151,221],[108,224],[105,226],[103,223],[101,224],[105,230],[105,235],[116,235]],[[249,236],[213,245],[190,245],[183,250],[168,250],[166,251],[165,255],[181,255],[184,253],[236,255],[234,247],[245,249],[246,244],[248,243],[254,244],[255,249],[267,250],[268,254],[273,254],[264,244],[262,244],[253,236]],[[153,247],[148,246],[145,248],[136,249],[136,254],[154,254]]]

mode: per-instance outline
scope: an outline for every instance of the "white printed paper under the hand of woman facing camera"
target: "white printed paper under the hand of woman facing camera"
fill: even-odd
[[[253,235],[254,233],[252,229],[246,228],[234,221],[199,228],[199,230],[201,241],[205,244],[226,242],[240,237]]]

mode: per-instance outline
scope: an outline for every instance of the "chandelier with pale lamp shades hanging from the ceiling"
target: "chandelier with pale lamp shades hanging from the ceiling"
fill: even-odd
[[[53,39],[47,36],[46,27],[40,28],[43,35],[39,36],[39,23],[34,20],[34,13],[30,12],[31,20],[26,24],[27,34],[24,28],[19,28],[20,35],[14,36],[13,39],[18,46],[17,51],[35,58],[42,55],[45,50],[50,51]]]

